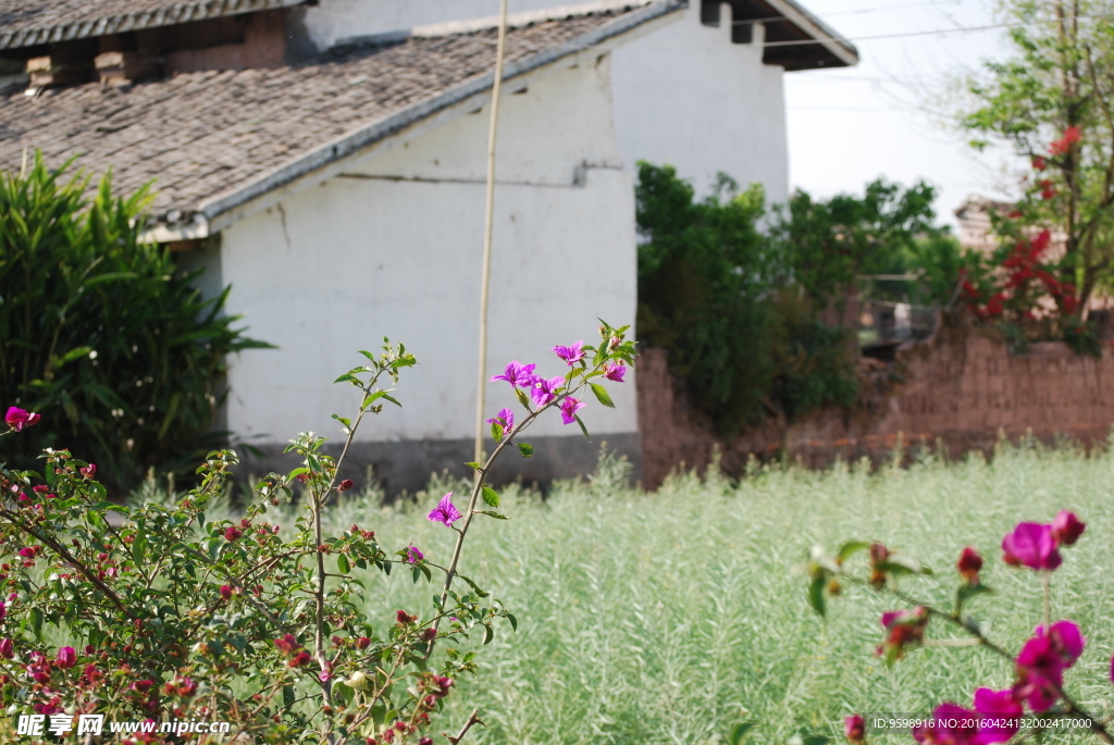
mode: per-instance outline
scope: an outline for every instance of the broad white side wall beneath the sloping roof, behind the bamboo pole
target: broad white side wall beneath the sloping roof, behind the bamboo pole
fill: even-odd
[[[593,343],[597,316],[634,322],[633,182],[617,167],[609,79],[603,57],[502,100],[488,376],[511,359],[561,374],[550,346]],[[231,430],[339,438],[330,414],[358,401],[332,380],[385,335],[420,364],[403,373],[403,409],[360,439],[472,435],[487,126],[486,109],[466,115],[224,232],[228,311],[281,346],[232,360]],[[583,418],[599,434],[636,432],[633,375],[609,388],[616,409],[592,400]],[[492,414],[514,401],[506,383],[487,395]],[[532,431],[578,434],[556,415]]]

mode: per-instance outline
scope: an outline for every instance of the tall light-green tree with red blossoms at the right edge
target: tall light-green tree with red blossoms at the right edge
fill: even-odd
[[[1004,141],[1032,165],[999,232],[1062,235],[1061,281],[1082,311],[1114,268],[1114,2],[1005,0],[1001,13],[1013,53],[969,82],[959,122],[975,148]]]

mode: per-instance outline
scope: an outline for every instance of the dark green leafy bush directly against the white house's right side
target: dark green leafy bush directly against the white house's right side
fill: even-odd
[[[695,202],[672,167],[639,164],[639,337],[670,351],[671,367],[727,435],[769,414],[849,405],[858,391],[847,330],[802,305],[784,246],[759,229],[762,187],[733,192],[721,176]]]

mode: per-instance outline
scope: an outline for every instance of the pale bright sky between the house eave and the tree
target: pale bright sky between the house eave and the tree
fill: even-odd
[[[938,187],[937,213],[970,193],[1006,196],[1016,161],[1004,148],[981,156],[946,125],[955,81],[1008,51],[1003,29],[956,31],[996,22],[981,0],[804,0],[859,48],[854,68],[785,76],[790,183],[814,196],[860,192],[879,176]],[[926,33],[947,30],[947,33]],[[874,38],[889,35],[893,38]],[[950,99],[950,102],[949,102]]]

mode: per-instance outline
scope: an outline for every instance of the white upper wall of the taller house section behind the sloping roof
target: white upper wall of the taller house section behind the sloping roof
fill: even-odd
[[[509,0],[509,11],[561,0]],[[340,38],[497,14],[498,0],[321,0],[305,24],[319,48]],[[762,28],[750,45],[731,43],[731,8],[719,28],[684,19],[615,51],[615,118],[628,169],[670,164],[706,194],[719,171],[743,187],[762,183],[772,203],[789,194],[783,70],[762,65]]]

